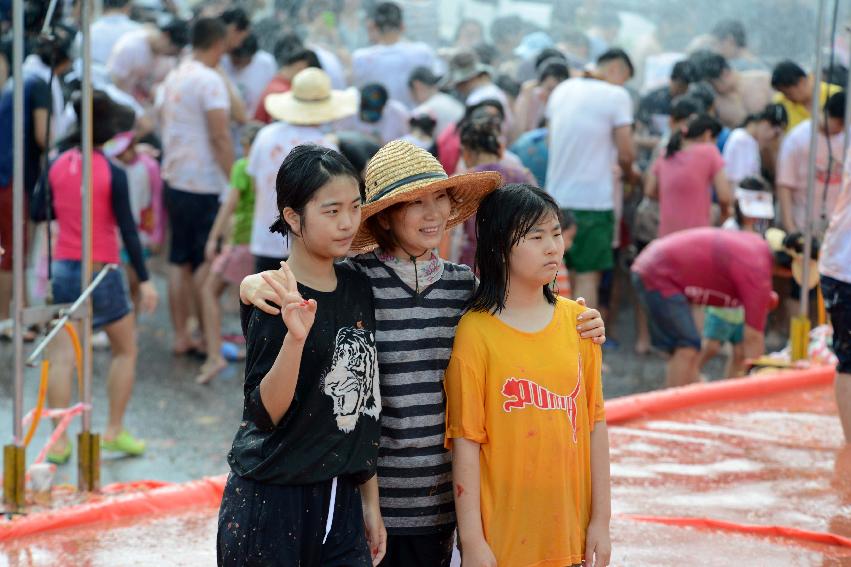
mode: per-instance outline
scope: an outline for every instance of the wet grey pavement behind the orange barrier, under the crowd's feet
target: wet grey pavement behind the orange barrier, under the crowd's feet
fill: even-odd
[[[226,472],[225,455],[240,421],[242,365],[231,364],[210,384],[195,384],[194,376],[201,361],[171,354],[165,280],[160,274],[155,282],[160,305],[154,315],[142,316],[139,322],[136,386],[125,420],[132,433],[146,439],[148,450],[143,457],[134,459],[104,454],[103,484],[139,479],[186,481]],[[230,311],[225,317],[225,333],[241,334],[237,302],[235,291],[222,299]],[[611,341],[604,352],[607,371],[603,385],[607,398],[653,390],[664,382],[665,363],[661,358],[633,354],[633,321],[632,309],[626,306],[617,325],[608,331],[619,340]],[[720,358],[712,361],[707,373],[720,376],[722,362]],[[99,432],[103,432],[106,423],[108,364],[108,351],[95,351],[93,424]],[[12,435],[11,368],[11,344],[0,342],[0,439],[4,443]],[[35,406],[38,378],[37,368],[27,369],[24,396],[27,410]],[[27,453],[30,461],[47,440],[50,428],[46,425],[47,422],[42,424],[33,439]],[[77,427],[72,425],[70,431],[76,432]],[[75,468],[60,467],[57,481],[75,483]]]

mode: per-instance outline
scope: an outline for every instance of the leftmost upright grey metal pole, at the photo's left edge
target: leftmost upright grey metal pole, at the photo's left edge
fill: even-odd
[[[14,310],[15,400],[12,411],[15,444],[23,442],[24,417],[24,0],[12,1],[12,302]],[[5,242],[3,244],[6,244]]]

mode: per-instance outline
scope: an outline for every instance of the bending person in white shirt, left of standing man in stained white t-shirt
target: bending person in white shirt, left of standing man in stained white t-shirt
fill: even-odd
[[[141,103],[153,97],[160,59],[174,57],[189,41],[189,26],[172,20],[160,28],[145,26],[116,42],[106,67],[113,84]]]

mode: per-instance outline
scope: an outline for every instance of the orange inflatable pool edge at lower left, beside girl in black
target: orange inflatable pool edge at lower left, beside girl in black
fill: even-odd
[[[151,490],[133,492],[61,510],[19,516],[0,523],[0,541],[30,536],[51,530],[61,530],[93,524],[177,512],[202,506],[218,506],[225,488],[225,475],[207,477],[181,484],[160,486]],[[138,486],[139,483],[127,483]],[[143,483],[144,485],[144,483]],[[106,488],[116,492],[125,487],[122,483]]]

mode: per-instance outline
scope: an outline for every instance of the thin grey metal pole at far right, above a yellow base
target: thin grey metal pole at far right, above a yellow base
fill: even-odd
[[[810,117],[812,132],[810,133],[810,159],[807,164],[807,207],[804,217],[804,267],[801,275],[801,320],[809,317],[810,311],[810,255],[813,250],[813,199],[816,190],[816,152],[818,151],[819,120],[821,119],[821,59],[822,47],[824,45],[824,12],[827,0],[819,0],[818,28],[816,32],[816,63],[813,69],[813,101]],[[828,140],[828,143],[830,141]],[[830,173],[828,172],[828,175]]]

